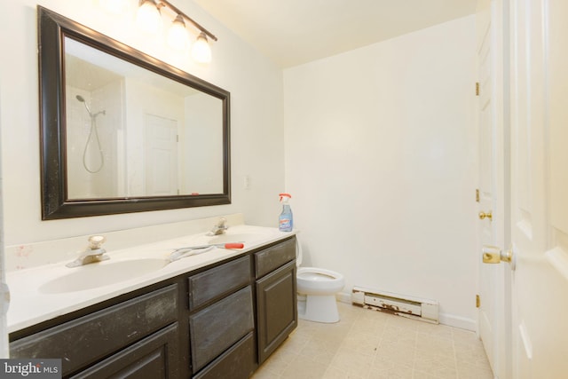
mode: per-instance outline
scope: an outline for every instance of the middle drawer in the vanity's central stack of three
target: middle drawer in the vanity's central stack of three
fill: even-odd
[[[248,286],[189,317],[193,374],[255,328]]]

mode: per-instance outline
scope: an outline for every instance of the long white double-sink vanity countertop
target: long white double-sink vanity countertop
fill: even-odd
[[[43,293],[40,288],[51,280],[78,272],[84,268],[93,270],[96,268],[93,265],[112,265],[115,262],[141,258],[168,260],[170,253],[174,249],[213,243],[215,237],[208,236],[206,233],[199,233],[128,249],[106,251],[106,254],[110,257],[109,260],[80,267],[68,268],[66,264],[69,261],[66,261],[7,272],[7,282],[11,292],[11,302],[8,310],[8,332],[12,333],[16,330],[28,328],[45,320],[51,320],[57,316],[83,309],[92,304],[98,304],[115,296],[123,295],[138,288],[144,288],[226,258],[240,256],[252,249],[283,240],[294,234],[296,232],[280,232],[278,228],[235,225],[229,228],[226,234],[223,234],[224,238],[230,242],[232,241],[232,235],[235,237],[246,237],[246,241],[238,238],[234,240],[243,241],[244,249],[212,249],[206,253],[171,262],[154,272],[118,283],[84,290],[68,288],[68,291],[61,293]]]

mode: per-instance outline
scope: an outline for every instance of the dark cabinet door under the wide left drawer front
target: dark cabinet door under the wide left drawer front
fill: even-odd
[[[71,378],[180,378],[177,322]]]

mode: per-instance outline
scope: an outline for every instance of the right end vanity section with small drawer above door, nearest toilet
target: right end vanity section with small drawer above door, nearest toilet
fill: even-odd
[[[276,350],[298,323],[296,239],[255,253],[258,364]]]

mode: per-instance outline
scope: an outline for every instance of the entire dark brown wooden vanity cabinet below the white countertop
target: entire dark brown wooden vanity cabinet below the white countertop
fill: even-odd
[[[10,335],[64,378],[246,379],[296,328],[296,239]]]

